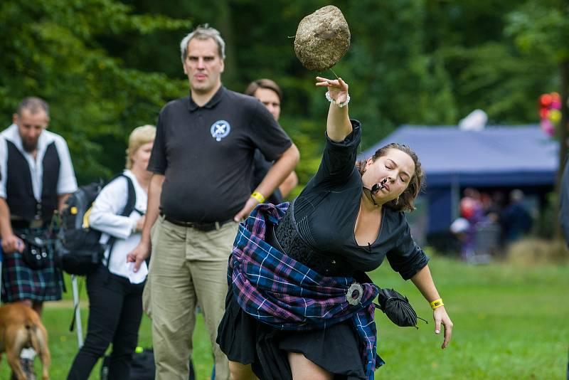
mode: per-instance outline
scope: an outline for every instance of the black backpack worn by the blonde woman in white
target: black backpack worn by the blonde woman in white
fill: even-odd
[[[132,180],[124,174],[117,174],[109,183],[121,176],[127,179],[128,184],[127,205],[124,206],[121,216],[129,216],[134,211],[137,201]],[[91,273],[97,268],[97,265],[102,263],[107,246],[110,246],[112,250],[112,245],[115,242],[115,238],[111,236],[107,244],[100,244],[101,231],[89,226],[91,206],[102,188],[101,181],[81,186],[65,201],[65,208],[60,214],[57,261],[59,268],[70,275]],[[110,253],[107,265],[108,263],[110,263]]]

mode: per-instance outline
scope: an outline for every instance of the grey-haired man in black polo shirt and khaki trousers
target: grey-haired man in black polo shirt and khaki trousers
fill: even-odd
[[[261,102],[221,85],[225,43],[216,29],[198,27],[180,47],[190,96],[160,112],[146,222],[129,260],[138,268],[152,248],[146,292],[156,379],[187,379],[197,302],[216,357],[216,380],[228,379],[216,335],[238,221],[289,175],[299,153]],[[275,164],[251,194],[255,149]]]

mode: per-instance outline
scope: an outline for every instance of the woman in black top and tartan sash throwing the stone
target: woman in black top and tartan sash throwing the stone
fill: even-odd
[[[418,157],[388,144],[356,164],[361,126],[348,116],[348,85],[316,85],[331,102],[317,174],[290,206],[257,206],[235,238],[218,331],[232,379],[373,379],[383,364],[378,287],[365,272],[385,257],[430,302],[449,344],[452,322],[403,215],[424,179]]]

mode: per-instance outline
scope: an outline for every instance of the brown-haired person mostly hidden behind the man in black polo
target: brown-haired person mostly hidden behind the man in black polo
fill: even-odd
[[[245,90],[245,95],[250,95],[256,97],[260,102],[262,102],[267,110],[271,112],[272,117],[278,122],[280,117],[281,102],[282,102],[282,90],[275,81],[270,79],[257,79],[249,83],[247,89]],[[251,190],[257,189],[257,186],[261,183],[262,179],[267,175],[267,171],[272,167],[272,162],[267,161],[261,152],[257,149],[255,150],[255,162],[253,164],[253,177],[251,181]],[[267,196],[267,203],[280,204],[283,199],[289,196],[294,186],[298,184],[298,176],[292,171],[289,176],[279,185],[275,191],[270,196]]]

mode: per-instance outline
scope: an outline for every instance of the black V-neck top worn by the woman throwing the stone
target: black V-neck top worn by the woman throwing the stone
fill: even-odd
[[[326,136],[317,174],[294,201],[297,232],[320,255],[339,257],[350,270],[374,270],[387,257],[393,270],[407,280],[427,265],[428,257],[413,241],[403,212],[383,206],[376,241],[366,246],[356,242],[354,228],[363,191],[355,167],[361,125],[356,120],[351,123],[353,131],[343,142]]]

